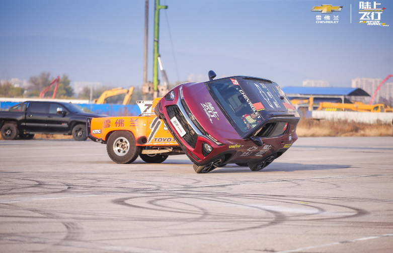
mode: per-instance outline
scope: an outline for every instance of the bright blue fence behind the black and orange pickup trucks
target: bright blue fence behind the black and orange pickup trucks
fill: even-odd
[[[18,105],[20,102],[0,102],[0,110],[8,109]],[[115,105],[115,104],[75,104],[81,107],[85,112],[106,114],[108,116],[137,116],[140,109],[137,105]]]

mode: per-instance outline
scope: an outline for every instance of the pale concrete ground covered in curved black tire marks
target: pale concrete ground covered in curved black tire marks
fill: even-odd
[[[391,252],[393,138],[300,138],[260,172],[0,141],[0,252]]]

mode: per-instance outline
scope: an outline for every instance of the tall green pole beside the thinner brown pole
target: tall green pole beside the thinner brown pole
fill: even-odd
[[[159,85],[159,27],[160,27],[160,10],[168,9],[168,6],[160,5],[160,0],[155,0],[154,8],[154,53],[153,53],[153,98],[158,97]]]

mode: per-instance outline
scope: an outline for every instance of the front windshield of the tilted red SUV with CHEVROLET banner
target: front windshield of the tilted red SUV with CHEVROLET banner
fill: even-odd
[[[206,82],[206,86],[240,136],[246,136],[263,122],[237,80],[221,79]]]

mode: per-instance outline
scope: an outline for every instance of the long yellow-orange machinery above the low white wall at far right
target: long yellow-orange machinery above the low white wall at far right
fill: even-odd
[[[355,102],[354,104],[348,103],[330,103],[330,102],[321,102],[320,107],[317,109],[318,111],[356,111],[356,112],[393,112],[393,108],[389,106],[385,107],[383,104],[375,104],[375,105],[365,105],[361,102]]]

